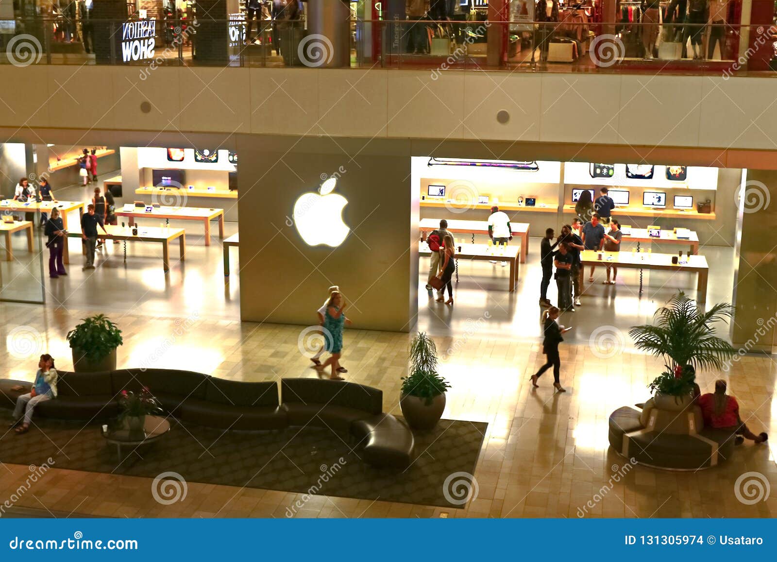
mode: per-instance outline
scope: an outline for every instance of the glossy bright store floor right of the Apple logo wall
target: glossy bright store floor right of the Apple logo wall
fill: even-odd
[[[452,307],[434,298],[424,288],[427,283],[429,260],[422,258],[418,285],[418,330],[440,336],[460,336],[477,333],[480,337],[536,338],[540,335],[538,304],[542,269],[539,265],[539,239],[529,243],[527,263],[521,264],[520,280],[516,291],[507,291],[509,267],[483,261],[458,260],[458,284],[454,284],[455,303]],[[672,252],[676,248],[653,245],[654,252]],[[631,251],[624,243],[623,251]],[[702,246],[699,253],[709,263],[707,304],[731,302],[733,293],[733,248]],[[615,285],[605,285],[605,267],[594,271],[594,282],[587,279],[586,268],[582,306],[575,312],[562,315],[561,323],[574,326],[566,336],[567,341],[586,343],[599,326],[613,326],[625,336],[630,326],[650,322],[657,308],[664,305],[678,290],[695,297],[695,274],[644,270],[643,293],[639,294],[638,270],[618,271]],[[548,298],[557,304],[556,281],[551,280]],[[435,295],[436,296],[436,295]],[[447,298],[447,293],[446,293]],[[724,326],[723,326],[724,327]],[[723,329],[721,337],[728,337]]]

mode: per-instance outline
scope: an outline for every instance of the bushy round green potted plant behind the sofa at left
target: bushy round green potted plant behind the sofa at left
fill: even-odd
[[[116,370],[116,349],[124,340],[121,330],[104,314],[87,316],[68,332],[75,372]]]

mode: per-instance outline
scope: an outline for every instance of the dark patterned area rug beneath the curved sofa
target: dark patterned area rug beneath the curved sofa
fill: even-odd
[[[0,410],[0,423],[10,420],[9,410]],[[488,427],[441,420],[432,431],[415,432],[415,459],[397,470],[368,466],[354,442],[326,428],[225,432],[170,421],[167,435],[136,452],[127,447],[120,460],[100,424],[38,418],[28,434],[0,438],[0,460],[40,465],[51,457],[57,468],[86,472],[148,478],[175,472],[187,482],[463,508],[456,487],[475,473]]]

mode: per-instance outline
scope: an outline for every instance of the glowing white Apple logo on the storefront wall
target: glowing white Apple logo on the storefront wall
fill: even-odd
[[[308,246],[332,246],[343,243],[350,229],[343,222],[343,208],[348,204],[345,197],[333,194],[336,177],[330,177],[319,187],[319,193],[303,194],[294,204],[294,225],[299,236]]]

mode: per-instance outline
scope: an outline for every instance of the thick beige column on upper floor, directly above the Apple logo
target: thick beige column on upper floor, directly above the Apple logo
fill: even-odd
[[[350,5],[343,0],[308,0],[308,37],[305,59],[316,68],[350,66]],[[328,43],[328,44],[327,44]],[[329,50],[331,44],[331,51]],[[318,49],[322,51],[316,52]],[[326,52],[325,52],[326,51]]]

